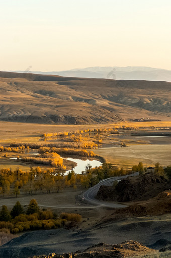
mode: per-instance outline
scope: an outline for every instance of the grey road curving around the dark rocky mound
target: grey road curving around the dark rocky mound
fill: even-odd
[[[120,204],[117,202],[108,202],[108,201],[98,200],[98,199],[96,199],[96,195],[97,195],[98,190],[101,185],[112,185],[114,181],[121,180],[121,179],[129,177],[129,176],[138,176],[138,175],[139,175],[139,173],[137,172],[137,173],[134,173],[131,175],[107,178],[107,179],[101,181],[100,183],[98,183],[97,185],[94,185],[93,187],[89,188],[86,192],[84,192],[82,194],[82,197],[94,205],[103,205],[104,207],[111,207],[111,208],[127,207],[127,205]]]

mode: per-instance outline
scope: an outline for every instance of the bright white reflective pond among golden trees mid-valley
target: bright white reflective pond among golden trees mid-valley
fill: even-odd
[[[68,161],[73,161],[75,163],[77,163],[77,166],[74,167],[73,171],[76,173],[76,174],[81,174],[82,171],[85,171],[85,166],[90,164],[92,166],[92,168],[95,168],[96,166],[99,167],[102,165],[102,163],[100,161],[97,161],[97,160],[86,160],[86,161],[82,161],[80,159],[72,159],[72,158],[65,158],[65,160],[68,160]],[[71,170],[68,170],[66,172],[69,172]]]

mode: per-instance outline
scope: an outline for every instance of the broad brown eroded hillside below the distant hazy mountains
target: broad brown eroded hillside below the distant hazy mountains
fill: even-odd
[[[0,72],[0,120],[94,124],[170,120],[171,83]]]

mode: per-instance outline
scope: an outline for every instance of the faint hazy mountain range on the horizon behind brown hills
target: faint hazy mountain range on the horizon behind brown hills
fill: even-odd
[[[128,67],[88,67],[82,69],[72,69],[67,71],[10,71],[18,73],[49,74],[79,78],[105,78],[116,80],[148,80],[148,81],[168,81],[171,82],[171,71],[152,67],[128,66]]]

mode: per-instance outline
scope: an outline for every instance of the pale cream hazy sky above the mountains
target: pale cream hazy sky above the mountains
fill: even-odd
[[[171,70],[170,0],[0,0],[0,70]]]

